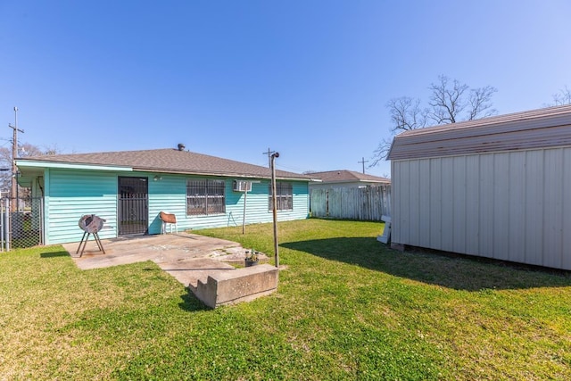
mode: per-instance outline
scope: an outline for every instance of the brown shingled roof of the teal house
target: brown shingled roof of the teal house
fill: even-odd
[[[61,167],[65,164],[79,164],[92,169],[101,166],[101,169],[115,167],[163,173],[271,178],[271,170],[267,167],[169,148],[145,151],[42,155],[17,159],[16,163],[19,166],[35,167]],[[276,178],[310,180],[310,176],[284,170],[276,170]]]

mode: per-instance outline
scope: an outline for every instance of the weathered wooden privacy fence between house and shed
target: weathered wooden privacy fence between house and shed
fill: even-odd
[[[391,186],[312,189],[312,217],[380,221],[391,215]]]

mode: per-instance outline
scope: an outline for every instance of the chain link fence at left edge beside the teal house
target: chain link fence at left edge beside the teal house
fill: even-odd
[[[44,244],[44,199],[0,199],[0,250]]]

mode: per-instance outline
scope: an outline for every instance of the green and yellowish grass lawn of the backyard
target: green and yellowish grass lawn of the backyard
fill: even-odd
[[[0,380],[571,379],[571,277],[280,223],[276,294],[215,311],[153,262],[0,253]],[[200,230],[273,253],[271,224]]]

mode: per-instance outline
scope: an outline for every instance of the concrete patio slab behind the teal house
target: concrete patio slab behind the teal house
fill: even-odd
[[[83,255],[79,242],[63,244],[79,269],[100,269],[141,261],[153,261],[180,283],[195,290],[198,280],[235,270],[230,263],[244,263],[245,249],[236,242],[187,233],[126,236],[103,239],[101,252],[93,236]],[[268,258],[261,255],[261,261]]]

